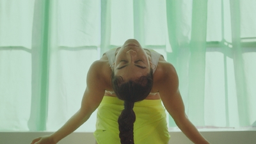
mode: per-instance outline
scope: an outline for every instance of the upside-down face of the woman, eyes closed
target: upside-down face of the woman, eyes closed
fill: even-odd
[[[137,40],[129,39],[116,54],[115,76],[121,76],[124,81],[146,76],[150,72],[148,55]]]

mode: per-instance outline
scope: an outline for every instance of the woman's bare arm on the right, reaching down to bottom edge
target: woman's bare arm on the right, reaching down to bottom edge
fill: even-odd
[[[170,63],[164,63],[161,68],[161,81],[157,82],[159,94],[164,107],[170,113],[179,129],[193,141],[193,143],[209,144],[189,121],[184,110],[184,103],[179,92],[179,79],[175,68]]]

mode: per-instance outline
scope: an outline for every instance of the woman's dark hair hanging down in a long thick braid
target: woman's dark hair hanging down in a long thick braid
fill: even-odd
[[[113,90],[118,99],[124,100],[124,110],[118,118],[119,138],[122,144],[134,144],[133,124],[136,115],[133,111],[134,102],[145,99],[151,91],[153,85],[152,69],[147,76],[141,76],[135,81],[124,83],[122,77],[116,77],[112,73]]]

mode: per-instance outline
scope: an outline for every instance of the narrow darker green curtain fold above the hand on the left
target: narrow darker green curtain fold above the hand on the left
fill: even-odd
[[[50,2],[35,1],[31,40],[31,111],[28,128],[44,131],[48,110]]]

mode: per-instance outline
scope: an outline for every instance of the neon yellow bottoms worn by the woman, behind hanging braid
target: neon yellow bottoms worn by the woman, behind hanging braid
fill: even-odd
[[[124,109],[124,101],[104,96],[97,112],[95,139],[98,144],[120,144],[118,116]],[[167,144],[170,135],[166,123],[165,109],[161,100],[135,102],[133,108],[135,144]]]

